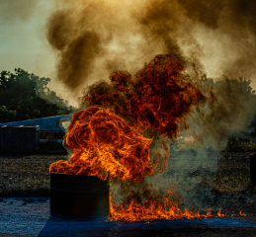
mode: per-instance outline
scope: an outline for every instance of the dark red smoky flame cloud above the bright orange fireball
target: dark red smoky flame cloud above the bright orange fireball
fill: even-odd
[[[128,72],[111,74],[111,84],[93,85],[84,104],[115,106],[115,110],[172,137],[178,122],[206,97],[184,78],[182,61],[174,54],[157,55],[131,81]],[[196,83],[194,83],[196,84]]]

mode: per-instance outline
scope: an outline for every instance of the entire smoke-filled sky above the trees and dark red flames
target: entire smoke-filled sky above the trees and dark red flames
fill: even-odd
[[[134,74],[159,53],[256,88],[255,9],[249,0],[0,0],[0,70],[49,77],[71,105],[88,85]]]

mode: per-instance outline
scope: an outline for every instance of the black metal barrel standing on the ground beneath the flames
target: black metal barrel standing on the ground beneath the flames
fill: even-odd
[[[109,215],[109,181],[50,173],[50,216],[77,220]]]

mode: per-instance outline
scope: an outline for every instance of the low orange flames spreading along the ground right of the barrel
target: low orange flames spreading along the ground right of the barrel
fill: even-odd
[[[171,189],[168,192],[168,196],[172,196],[174,190]],[[157,219],[174,220],[174,219],[194,219],[194,218],[208,218],[208,217],[235,217],[246,216],[241,211],[239,214],[227,215],[221,213],[221,209],[218,209],[217,215],[212,214],[212,208],[204,210],[206,214],[201,214],[200,211],[190,211],[187,207],[182,211],[179,207],[179,203],[175,203],[168,197],[165,197],[164,201],[155,200],[152,197],[148,197],[147,201],[142,204],[138,204],[134,198],[129,199],[128,207],[126,207],[126,200],[121,204],[112,203],[112,197],[110,195],[110,214],[108,218],[110,220],[121,220],[127,222],[134,221],[152,221]]]

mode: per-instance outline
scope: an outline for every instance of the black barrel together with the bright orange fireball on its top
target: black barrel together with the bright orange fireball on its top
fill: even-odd
[[[64,147],[69,160],[54,162],[50,173],[50,214],[71,219],[95,219],[109,214],[107,179],[140,182],[153,173],[150,138],[129,126],[113,110],[91,107],[76,112]]]

